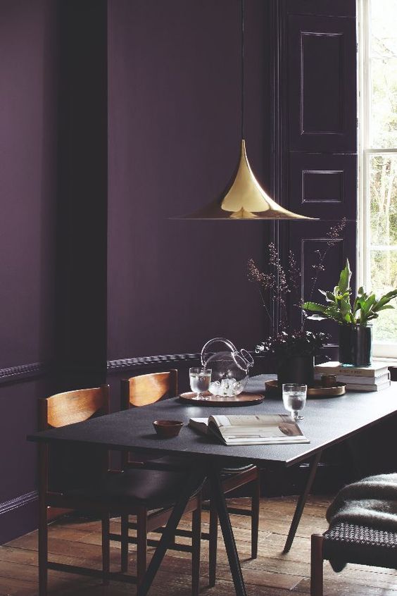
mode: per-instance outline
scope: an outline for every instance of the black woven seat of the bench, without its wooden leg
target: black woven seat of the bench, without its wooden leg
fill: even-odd
[[[347,561],[397,569],[397,532],[336,523],[324,533],[322,554],[334,571],[343,569]]]

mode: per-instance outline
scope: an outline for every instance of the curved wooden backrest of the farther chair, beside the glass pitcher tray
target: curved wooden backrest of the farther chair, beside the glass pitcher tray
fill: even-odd
[[[178,371],[150,373],[121,381],[121,409],[147,406],[162,397],[175,397],[178,392]]]

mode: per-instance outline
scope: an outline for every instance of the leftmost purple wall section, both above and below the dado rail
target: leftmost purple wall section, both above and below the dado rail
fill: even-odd
[[[0,368],[13,371],[53,350],[54,8],[0,1]],[[45,379],[0,385],[0,542],[34,526],[35,449],[25,436],[46,391]],[[10,499],[21,505],[13,519]]]

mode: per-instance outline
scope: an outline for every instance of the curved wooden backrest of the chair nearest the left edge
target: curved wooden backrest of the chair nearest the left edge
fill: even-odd
[[[39,399],[39,427],[59,428],[109,412],[109,386],[79,389]]]

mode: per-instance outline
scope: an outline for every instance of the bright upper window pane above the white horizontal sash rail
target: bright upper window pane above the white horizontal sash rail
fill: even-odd
[[[371,2],[370,145],[397,147],[397,0]]]

